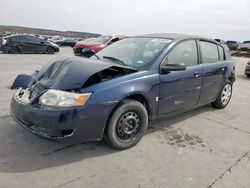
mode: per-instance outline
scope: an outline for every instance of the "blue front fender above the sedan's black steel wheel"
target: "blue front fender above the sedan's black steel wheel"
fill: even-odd
[[[131,75],[132,76],[132,75]],[[133,79],[117,78],[106,83],[98,84],[98,87],[86,88],[82,92],[91,92],[92,95],[88,101],[90,104],[99,103],[119,103],[124,98],[132,95],[141,95],[147,101],[152,117],[157,115],[159,97],[159,74],[150,74]]]

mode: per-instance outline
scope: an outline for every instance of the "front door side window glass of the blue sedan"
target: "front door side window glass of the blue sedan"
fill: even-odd
[[[197,65],[198,53],[195,40],[188,40],[177,44],[164,61],[164,64]]]

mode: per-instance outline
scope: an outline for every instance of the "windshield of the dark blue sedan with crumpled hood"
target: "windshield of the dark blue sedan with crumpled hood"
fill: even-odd
[[[133,69],[147,69],[171,42],[163,38],[125,38],[120,40],[91,58],[112,61]]]

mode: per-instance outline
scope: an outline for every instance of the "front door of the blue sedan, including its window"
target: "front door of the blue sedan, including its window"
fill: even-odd
[[[186,70],[160,74],[158,115],[196,105],[201,91],[202,66],[199,64],[195,40],[186,40],[175,45],[161,66],[166,64],[185,65]]]

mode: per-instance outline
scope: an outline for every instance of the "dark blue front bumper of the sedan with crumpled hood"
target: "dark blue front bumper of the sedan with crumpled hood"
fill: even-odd
[[[11,100],[13,119],[35,135],[58,141],[101,140],[107,118],[115,105],[115,102],[109,102],[83,107],[49,109],[40,107],[27,97],[20,98],[20,92],[24,91],[19,89]]]

